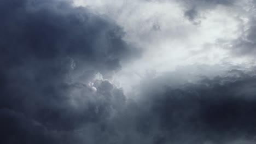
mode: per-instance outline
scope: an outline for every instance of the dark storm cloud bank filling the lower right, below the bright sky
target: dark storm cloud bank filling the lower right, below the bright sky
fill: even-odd
[[[127,99],[118,115],[101,123],[100,132],[92,130],[99,142],[255,143],[255,75],[230,70],[179,86],[154,85],[157,79],[147,81],[137,102]]]

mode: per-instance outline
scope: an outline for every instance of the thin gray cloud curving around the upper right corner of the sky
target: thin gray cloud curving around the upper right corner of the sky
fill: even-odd
[[[237,29],[238,38],[227,41],[222,40],[225,44],[224,49],[230,50],[232,56],[251,57],[255,55],[255,2],[254,1],[182,1],[185,11],[184,17],[195,24],[200,24],[203,19],[203,13],[207,13],[218,5],[230,9],[230,16],[236,17],[240,22]],[[234,14],[235,13],[235,14]],[[216,41],[218,44],[219,42]],[[222,44],[220,44],[222,45]]]

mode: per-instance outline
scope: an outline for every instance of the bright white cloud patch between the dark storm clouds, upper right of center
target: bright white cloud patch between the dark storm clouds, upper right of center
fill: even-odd
[[[238,19],[236,11],[246,3],[205,10],[196,18],[195,25],[184,17],[186,7],[177,1],[74,1],[76,6],[116,21],[126,33],[124,39],[143,49],[141,58],[123,63],[117,74],[116,81],[124,89],[131,88],[150,70],[161,75],[178,66],[193,64],[252,64],[251,59],[231,57],[227,49],[228,41],[241,35],[244,22],[241,19],[246,21],[246,17]]]

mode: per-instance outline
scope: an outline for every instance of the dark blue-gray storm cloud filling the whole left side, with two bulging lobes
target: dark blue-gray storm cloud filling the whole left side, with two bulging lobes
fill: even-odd
[[[4,0],[0,13],[0,143],[79,143],[72,131],[124,103],[110,82],[88,85],[139,54],[112,21],[68,1]]]

